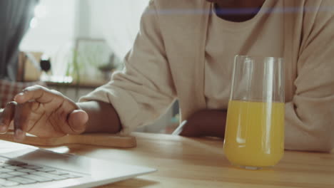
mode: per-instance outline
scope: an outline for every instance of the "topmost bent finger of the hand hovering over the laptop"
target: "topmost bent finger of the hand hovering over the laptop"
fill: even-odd
[[[14,100],[17,103],[26,103],[30,100],[35,100],[38,103],[48,103],[55,97],[55,95],[59,95],[59,93],[44,88],[41,85],[34,85],[25,88],[21,93],[14,97]]]

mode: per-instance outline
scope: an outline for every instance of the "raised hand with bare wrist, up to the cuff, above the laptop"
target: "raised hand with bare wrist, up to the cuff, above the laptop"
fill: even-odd
[[[39,137],[61,137],[121,130],[116,110],[107,103],[74,103],[58,91],[39,85],[26,88],[14,100],[0,111],[0,132],[14,129],[16,141],[24,140],[26,132]]]

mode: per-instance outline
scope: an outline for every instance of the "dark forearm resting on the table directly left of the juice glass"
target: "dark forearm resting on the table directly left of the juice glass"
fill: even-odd
[[[186,137],[224,137],[226,110],[199,110],[181,123],[179,135]]]

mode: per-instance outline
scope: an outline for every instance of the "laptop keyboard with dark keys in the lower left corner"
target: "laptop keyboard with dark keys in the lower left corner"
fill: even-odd
[[[52,167],[4,160],[2,157],[0,159],[0,187],[14,187],[20,184],[51,182],[78,177],[81,176]]]

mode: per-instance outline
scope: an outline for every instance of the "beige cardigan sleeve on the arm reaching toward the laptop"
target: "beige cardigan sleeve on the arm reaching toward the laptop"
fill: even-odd
[[[124,59],[124,69],[79,101],[110,103],[121,120],[121,134],[147,125],[166,112],[176,98],[154,1],[141,17],[140,31]]]

